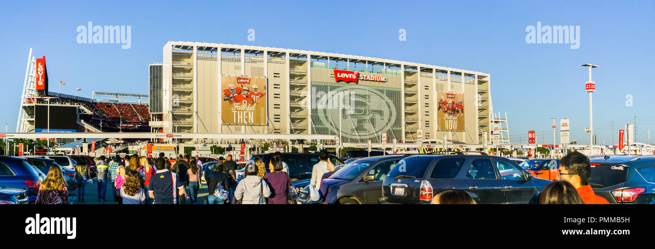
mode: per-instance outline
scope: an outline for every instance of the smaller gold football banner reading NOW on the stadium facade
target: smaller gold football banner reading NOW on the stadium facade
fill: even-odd
[[[437,92],[439,130],[464,131],[464,94]]]

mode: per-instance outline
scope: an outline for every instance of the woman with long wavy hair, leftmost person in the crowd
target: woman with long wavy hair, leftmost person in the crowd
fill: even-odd
[[[52,164],[41,182],[35,204],[68,204],[68,188],[59,166]]]

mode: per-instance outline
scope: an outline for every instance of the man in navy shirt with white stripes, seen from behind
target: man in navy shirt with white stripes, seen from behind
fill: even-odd
[[[150,198],[155,199],[153,204],[177,204],[178,195],[185,195],[189,199],[178,174],[166,169],[164,159],[156,159],[155,168],[157,168],[157,172],[150,178],[148,191]]]

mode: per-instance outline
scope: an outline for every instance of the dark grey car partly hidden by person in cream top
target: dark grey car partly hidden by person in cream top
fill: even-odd
[[[386,174],[398,161],[409,155],[365,157],[348,163],[332,176],[323,180],[327,195],[324,204],[377,204],[382,197],[382,183]],[[308,187],[300,192],[298,201],[307,204]]]

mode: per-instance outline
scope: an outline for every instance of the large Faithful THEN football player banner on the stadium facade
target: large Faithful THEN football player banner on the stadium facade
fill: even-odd
[[[223,124],[266,125],[266,78],[221,76]]]

